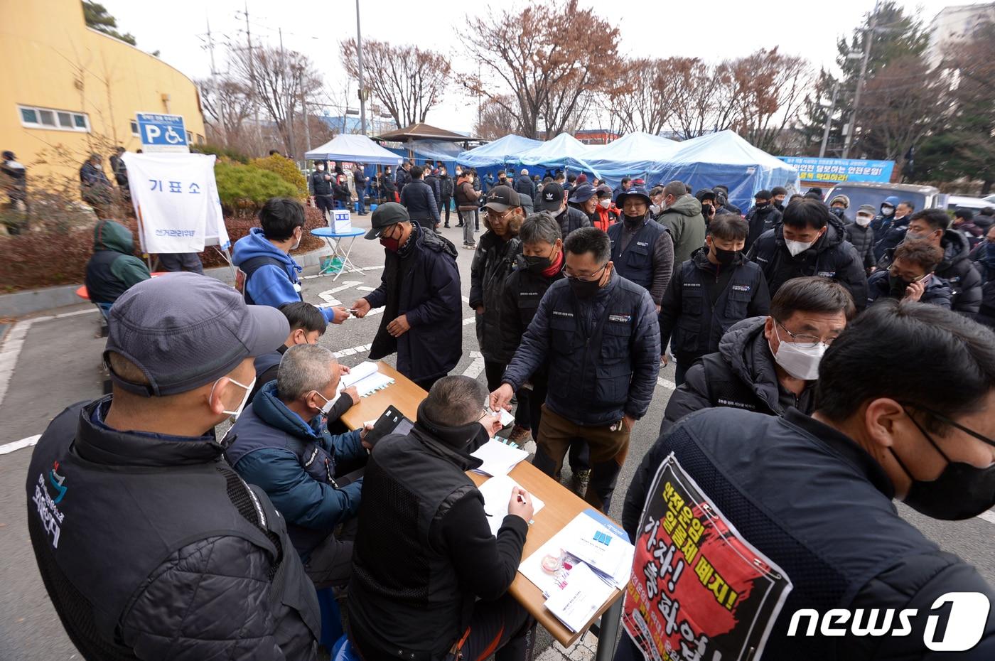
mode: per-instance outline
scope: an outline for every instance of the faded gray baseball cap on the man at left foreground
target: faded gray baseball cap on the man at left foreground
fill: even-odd
[[[276,350],[290,332],[277,308],[248,306],[235,289],[208,276],[170,273],[132,286],[114,302],[103,359],[111,380],[124,390],[173,395],[221,378],[249,356]],[[115,374],[110,351],[134,363],[148,384]]]

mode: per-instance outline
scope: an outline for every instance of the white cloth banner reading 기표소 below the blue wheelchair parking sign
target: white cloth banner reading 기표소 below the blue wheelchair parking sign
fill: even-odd
[[[125,153],[142,252],[199,253],[229,245],[213,154]]]

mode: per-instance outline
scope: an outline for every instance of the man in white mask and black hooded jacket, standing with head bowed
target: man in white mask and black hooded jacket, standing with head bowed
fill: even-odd
[[[821,276],[850,290],[858,311],[867,307],[864,263],[847,241],[843,221],[819,200],[788,204],[781,224],[761,234],[746,257],[760,265],[771,296],[792,278]]]

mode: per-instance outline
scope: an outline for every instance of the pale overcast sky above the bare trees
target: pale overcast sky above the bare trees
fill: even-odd
[[[134,0],[101,0],[117,19],[121,32],[130,32],[144,51],[161,51],[160,57],[191,78],[210,73],[206,49],[207,22],[215,41],[218,69],[227,59],[225,43],[244,44],[243,0],[172,0],[152,3]],[[360,0],[363,37],[392,44],[416,44],[451,56],[456,71],[475,69],[461,62],[460,40],[467,14],[488,16],[495,7],[522,7],[522,3],[456,3],[446,0]],[[924,24],[944,6],[944,0],[898,0],[906,12],[917,13]],[[968,4],[968,3],[964,3]],[[581,6],[618,25],[620,51],[633,57],[698,57],[719,61],[747,55],[757,48],[779,46],[782,52],[801,55],[816,68],[833,67],[836,42],[850,35],[862,17],[874,7],[873,0],[835,0],[824,3],[704,2],[621,3],[617,0],[581,0]],[[355,84],[349,83],[339,64],[338,43],[356,35],[354,0],[248,0],[253,43],[279,44],[304,53],[323,72],[329,89],[340,92],[326,103],[341,103],[348,85],[349,104],[358,107]],[[620,11],[620,9],[622,11]],[[259,40],[259,41],[258,41]],[[606,82],[606,84],[610,84]],[[476,119],[476,100],[456,91],[431,110],[428,122],[454,130],[469,131]],[[334,112],[338,113],[338,112]]]

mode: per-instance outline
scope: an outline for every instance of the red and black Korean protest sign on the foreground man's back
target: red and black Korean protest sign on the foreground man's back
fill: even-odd
[[[622,623],[647,661],[756,661],[791,580],[743,540],[672,453],[650,488]]]

